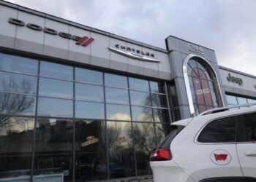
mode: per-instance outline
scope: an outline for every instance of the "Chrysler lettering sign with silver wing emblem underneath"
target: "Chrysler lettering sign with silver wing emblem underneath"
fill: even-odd
[[[125,55],[132,59],[144,60],[154,63],[159,63],[160,60],[155,59],[155,55],[150,52],[143,52],[142,50],[136,50],[133,47],[125,47],[120,44],[116,44],[115,47],[108,47],[109,50],[116,52],[120,55]]]

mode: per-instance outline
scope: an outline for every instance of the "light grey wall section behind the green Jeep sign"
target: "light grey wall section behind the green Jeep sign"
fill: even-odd
[[[244,74],[230,68],[219,66],[219,71],[224,84],[225,92],[233,95],[244,95],[245,97],[256,98],[256,76]],[[242,80],[242,84],[228,81],[227,77],[233,76]]]

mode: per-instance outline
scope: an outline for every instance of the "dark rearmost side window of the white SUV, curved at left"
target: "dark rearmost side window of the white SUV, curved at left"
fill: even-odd
[[[236,116],[210,122],[203,128],[197,141],[202,143],[236,142]]]

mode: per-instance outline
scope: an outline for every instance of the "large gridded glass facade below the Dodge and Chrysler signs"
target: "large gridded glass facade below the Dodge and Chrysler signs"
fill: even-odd
[[[151,175],[170,127],[165,82],[0,53],[0,86],[0,181]]]

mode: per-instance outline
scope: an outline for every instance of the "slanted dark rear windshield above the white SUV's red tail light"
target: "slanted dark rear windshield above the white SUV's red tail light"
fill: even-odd
[[[158,149],[167,149],[170,147],[170,143],[178,135],[179,132],[184,128],[182,125],[171,125],[170,133],[166,136],[165,140],[159,145]]]

